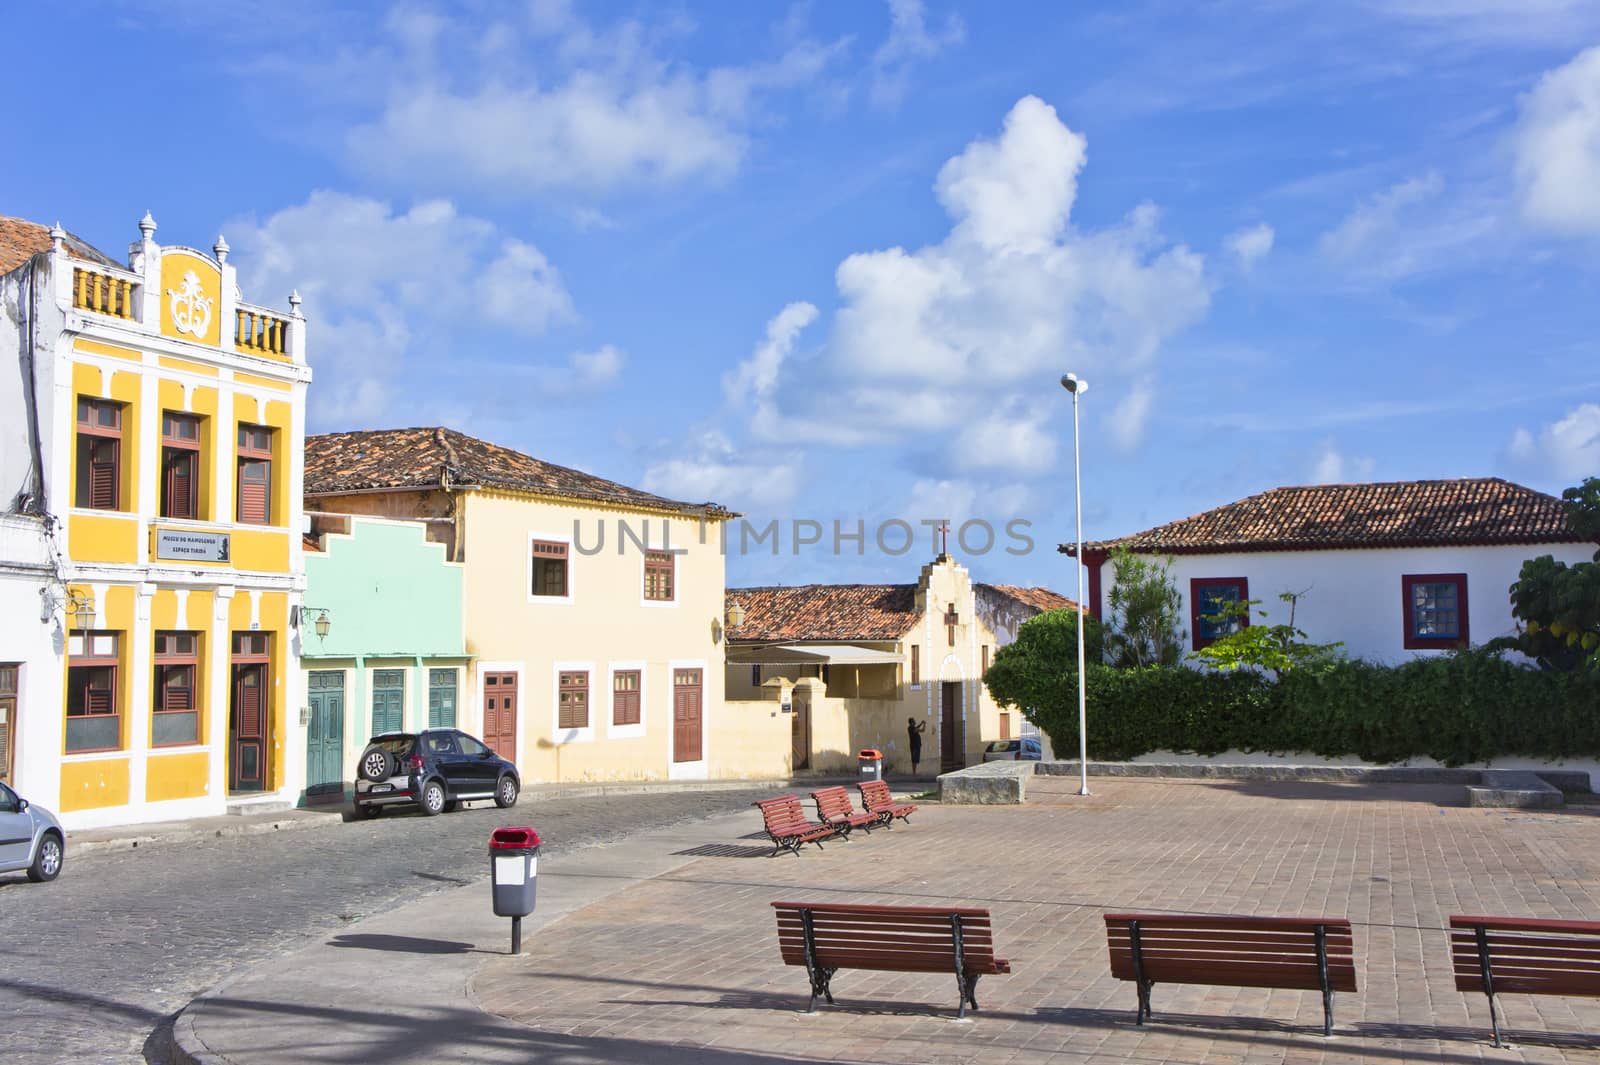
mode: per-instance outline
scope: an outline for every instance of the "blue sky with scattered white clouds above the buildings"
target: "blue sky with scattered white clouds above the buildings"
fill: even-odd
[[[1069,371],[1085,539],[1600,475],[1592,0],[54,6],[0,214],[224,235],[304,297],[310,432],[718,502],[731,585],[949,521],[1074,593]]]

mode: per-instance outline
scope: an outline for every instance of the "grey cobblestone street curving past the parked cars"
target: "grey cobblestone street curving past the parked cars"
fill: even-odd
[[[509,811],[331,817],[326,827],[83,856],[69,848],[53,884],[0,875],[0,1062],[139,1062],[158,1025],[251,961],[486,876],[494,827],[531,824],[560,854],[770,793],[525,796]],[[374,1001],[403,995],[405,979],[379,980]]]

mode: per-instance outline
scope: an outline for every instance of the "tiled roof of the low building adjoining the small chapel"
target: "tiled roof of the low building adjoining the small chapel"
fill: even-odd
[[[914,584],[728,588],[725,601],[744,608],[744,620],[728,630],[741,643],[899,640],[920,619]]]

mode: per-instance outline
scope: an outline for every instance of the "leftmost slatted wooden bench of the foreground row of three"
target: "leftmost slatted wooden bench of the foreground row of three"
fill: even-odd
[[[805,966],[816,996],[834,1004],[829,982],[840,969],[878,972],[952,972],[962,993],[957,1017],[978,1009],[978,979],[1010,972],[995,958],[989,910],[946,907],[858,907],[813,902],[774,902],[778,948],[784,963]]]

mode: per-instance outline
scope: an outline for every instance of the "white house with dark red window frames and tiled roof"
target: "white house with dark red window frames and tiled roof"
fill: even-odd
[[[1251,622],[1288,622],[1312,643],[1397,664],[1515,632],[1509,587],[1523,561],[1594,558],[1560,499],[1493,477],[1274,488],[1189,518],[1083,545],[1090,611],[1109,619],[1110,553],[1171,558],[1186,649],[1232,622],[1227,603],[1259,600]],[[1074,544],[1061,552],[1072,555]]]

